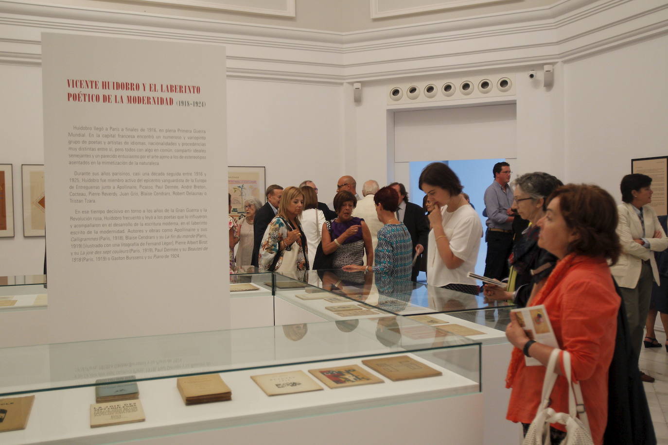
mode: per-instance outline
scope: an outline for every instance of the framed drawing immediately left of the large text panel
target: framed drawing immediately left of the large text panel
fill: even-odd
[[[21,165],[23,183],[23,236],[44,236],[46,203],[44,165]]]

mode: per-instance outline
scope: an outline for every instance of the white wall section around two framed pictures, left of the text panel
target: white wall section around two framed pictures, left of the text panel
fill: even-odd
[[[23,237],[21,164],[44,163],[41,69],[0,65],[6,87],[0,107],[0,163],[13,166],[14,237],[0,238],[0,276],[43,273],[44,237]]]

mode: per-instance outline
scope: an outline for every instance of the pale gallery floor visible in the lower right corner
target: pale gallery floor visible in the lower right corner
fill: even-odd
[[[663,342],[663,335],[659,342]],[[643,348],[640,354],[640,368],[656,378],[654,383],[645,383],[645,394],[652,415],[654,430],[659,445],[668,445],[668,354],[665,348]]]

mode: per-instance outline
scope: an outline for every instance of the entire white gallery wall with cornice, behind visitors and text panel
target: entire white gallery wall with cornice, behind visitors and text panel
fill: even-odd
[[[666,154],[668,3],[662,0],[521,1],[452,15],[356,17],[346,25],[341,17],[368,14],[369,1],[327,1],[322,9],[297,1],[293,19],[173,7],[166,14],[135,2],[48,3],[0,0],[0,79],[9,85],[0,107],[0,163],[14,165],[16,234],[0,239],[2,275],[39,273],[43,261],[43,238],[22,236],[20,184],[21,163],[43,163],[42,31],[224,45],[228,163],[266,165],[268,184],[313,179],[324,202],[343,174],[358,183],[405,180],[405,162],[395,163],[395,113],[454,102],[392,105],[389,90],[450,75],[513,76],[515,93],[505,99],[516,112],[516,173],[542,170],[599,183],[619,199],[631,158]],[[300,11],[308,17],[300,19]],[[325,16],[331,26],[323,26]],[[554,65],[548,89],[546,63]],[[537,71],[534,80],[530,69]],[[362,85],[358,103],[355,82]]]

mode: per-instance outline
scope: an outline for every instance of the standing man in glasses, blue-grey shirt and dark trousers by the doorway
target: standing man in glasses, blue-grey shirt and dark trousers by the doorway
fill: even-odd
[[[510,182],[510,164],[497,162],[492,174],[494,182],[485,191],[485,210],[487,213],[487,257],[484,275],[503,280],[508,276],[508,257],[512,252],[512,202],[514,197]]]

